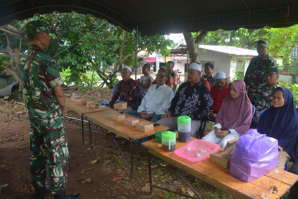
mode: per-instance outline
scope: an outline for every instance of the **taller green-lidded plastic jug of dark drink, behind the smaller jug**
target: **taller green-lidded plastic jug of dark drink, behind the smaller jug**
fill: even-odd
[[[188,116],[180,116],[177,118],[177,123],[178,123],[178,140],[180,142],[186,142],[186,139],[190,138],[191,118]]]

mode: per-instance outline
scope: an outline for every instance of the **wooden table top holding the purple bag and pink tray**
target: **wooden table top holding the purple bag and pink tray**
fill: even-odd
[[[194,139],[196,138],[192,137],[192,140]],[[184,146],[185,144],[186,143],[182,143],[176,140],[176,149]],[[298,180],[298,175],[292,174],[282,169],[278,169],[276,167],[262,177],[246,183],[236,179],[235,177],[232,177],[229,174],[229,169],[224,169],[221,166],[211,163],[210,155],[200,162],[194,163],[177,156],[173,152],[164,152],[162,149],[156,146],[161,146],[162,143],[155,139],[144,142],[142,143],[142,145],[145,146],[148,151],[156,157],[159,157],[160,159],[171,163],[174,166],[177,166],[185,172],[198,177],[199,179],[235,196],[236,198],[261,198],[261,180],[269,179],[270,174],[273,174],[275,172],[278,172],[283,177],[283,183],[280,187],[280,190],[276,194],[272,193],[270,199],[280,198],[281,196],[283,196],[285,192],[287,192],[291,188],[291,186],[293,186],[294,183]]]

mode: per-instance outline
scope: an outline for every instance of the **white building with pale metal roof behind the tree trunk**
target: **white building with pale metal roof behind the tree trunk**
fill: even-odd
[[[200,45],[200,61],[202,71],[204,71],[204,63],[212,62],[214,64],[214,73],[219,71],[226,73],[230,79],[243,78],[250,60],[257,56],[257,50],[248,50],[233,46],[213,46]],[[171,50],[171,57],[176,64],[174,70],[184,73],[185,64],[190,63],[187,53],[187,46],[180,44]]]

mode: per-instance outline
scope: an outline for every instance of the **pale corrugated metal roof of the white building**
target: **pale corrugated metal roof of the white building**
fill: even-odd
[[[213,45],[200,45],[199,48],[213,50],[221,53],[234,54],[236,56],[257,56],[257,50],[249,50],[245,48],[238,48],[234,46],[213,46]]]

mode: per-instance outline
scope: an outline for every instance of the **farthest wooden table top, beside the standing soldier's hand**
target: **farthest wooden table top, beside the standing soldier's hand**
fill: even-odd
[[[87,102],[89,102],[90,100],[87,100]],[[80,114],[80,115],[84,115],[84,114],[88,114],[88,113],[95,113],[95,112],[100,112],[100,111],[106,111],[109,110],[111,108],[108,107],[101,107],[101,108],[87,108],[87,105],[79,105],[79,104],[75,104],[74,101],[72,101],[70,98],[66,98],[65,99],[65,105],[67,108],[75,111],[76,113]]]

